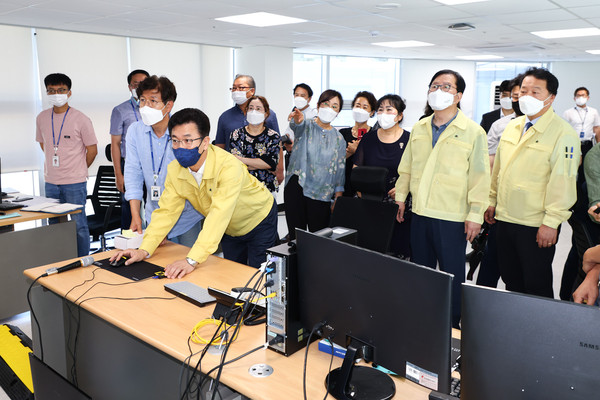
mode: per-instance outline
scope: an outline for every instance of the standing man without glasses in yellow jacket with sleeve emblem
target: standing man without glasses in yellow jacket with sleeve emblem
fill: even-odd
[[[558,79],[525,72],[519,108],[500,139],[494,161],[488,223],[498,221],[498,266],[511,291],[554,297],[552,259],[560,224],[571,215],[581,157],[579,137],[554,113]]]

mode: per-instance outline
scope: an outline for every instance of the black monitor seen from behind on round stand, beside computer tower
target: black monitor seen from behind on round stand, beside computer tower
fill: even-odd
[[[330,393],[393,396],[393,381],[352,368],[355,357],[448,393],[452,275],[305,231],[296,237],[301,320],[308,329],[325,322],[323,336],[332,332],[348,349],[342,369],[330,374]]]

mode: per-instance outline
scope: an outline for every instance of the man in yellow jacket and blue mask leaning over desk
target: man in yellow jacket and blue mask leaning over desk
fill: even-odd
[[[173,114],[169,131],[176,160],[138,250],[119,252],[129,265],[152,255],[181,215],[185,201],[205,216],[187,257],[167,265],[168,278],[182,278],[217,250],[225,258],[258,268],[277,240],[277,204],[269,190],[230,153],[210,144],[210,122],[200,110]]]

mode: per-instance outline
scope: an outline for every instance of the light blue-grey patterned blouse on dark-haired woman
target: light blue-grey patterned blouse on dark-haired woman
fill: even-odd
[[[298,183],[306,197],[331,201],[335,192],[344,191],[346,169],[346,141],[337,129],[325,130],[314,120],[304,120],[296,125],[294,147],[290,157],[285,182],[298,175]]]

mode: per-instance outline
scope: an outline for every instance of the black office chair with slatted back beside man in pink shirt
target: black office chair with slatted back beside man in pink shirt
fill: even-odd
[[[87,217],[90,235],[100,240],[100,248],[95,253],[106,251],[106,232],[121,227],[121,192],[117,189],[115,171],[112,165],[98,167],[94,191],[87,197],[94,207],[94,214]]]

